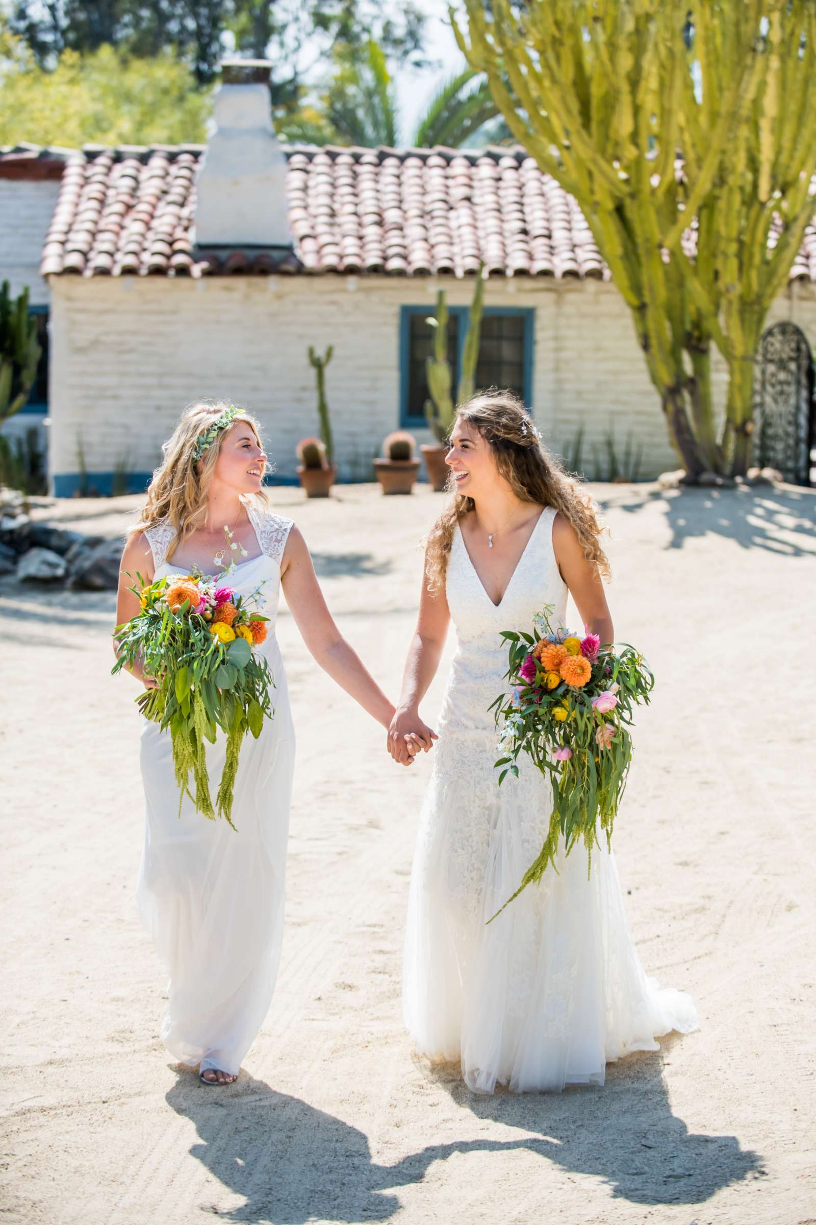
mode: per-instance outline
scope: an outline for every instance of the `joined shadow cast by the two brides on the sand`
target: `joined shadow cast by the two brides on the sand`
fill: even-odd
[[[187,1074],[166,1100],[196,1125],[201,1143],[193,1144],[191,1155],[224,1187],[245,1197],[246,1203],[232,1210],[213,1205],[219,1216],[234,1221],[389,1220],[402,1207],[399,1188],[421,1183],[432,1163],[454,1153],[514,1149],[541,1159],[542,1180],[555,1165],[602,1178],[614,1198],[629,1203],[700,1204],[763,1171],[759,1156],[741,1149],[736,1137],[696,1136],[672,1114],[662,1074],[669,1049],[664,1040],[659,1054],[610,1065],[603,1089],[568,1089],[562,1095],[481,1098],[464,1087],[456,1068],[423,1069],[460,1110],[500,1125],[502,1136],[508,1127],[524,1134],[434,1144],[395,1165],[373,1161],[368,1138],[356,1127],[245,1072],[234,1087],[218,1090],[218,1098]],[[486,1164],[484,1177],[494,1176]],[[510,1191],[506,1167],[504,1176]]]

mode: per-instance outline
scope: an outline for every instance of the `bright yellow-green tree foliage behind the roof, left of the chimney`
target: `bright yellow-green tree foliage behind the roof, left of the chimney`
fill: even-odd
[[[46,71],[21,39],[0,33],[0,145],[197,142],[210,110],[209,91],[171,51],[141,60],[105,45],[66,50]]]

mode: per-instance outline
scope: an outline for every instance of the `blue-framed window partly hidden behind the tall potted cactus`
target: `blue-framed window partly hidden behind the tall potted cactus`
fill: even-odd
[[[433,327],[426,322],[433,304],[402,306],[400,312],[400,425],[425,425],[428,396],[426,358],[433,353]],[[532,403],[535,307],[486,306],[482,317],[476,387],[509,387]],[[454,396],[467,336],[469,307],[448,307],[448,361]]]

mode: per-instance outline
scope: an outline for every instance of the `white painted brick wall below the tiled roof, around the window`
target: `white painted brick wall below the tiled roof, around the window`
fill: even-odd
[[[279,475],[292,477],[295,445],[317,432],[307,347],[334,345],[327,390],[341,478],[369,461],[399,421],[400,305],[433,309],[431,279],[333,277],[51,278],[50,470],[77,470],[82,434],[89,472],[127,457],[150,472],[185,404],[232,399],[261,418]],[[644,448],[641,477],[678,467],[628,309],[610,284],[488,282],[486,305],[535,306],[533,408],[555,450],[585,425],[585,467],[610,426]],[[445,282],[450,305],[472,282]],[[798,288],[772,312],[816,339],[816,295]],[[716,371],[723,386],[722,366]],[[418,441],[429,441],[417,431]],[[366,479],[368,477],[366,475]]]

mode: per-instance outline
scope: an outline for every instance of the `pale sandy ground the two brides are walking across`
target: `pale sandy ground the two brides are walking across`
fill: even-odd
[[[644,963],[695,995],[701,1031],[560,1096],[477,1098],[412,1056],[400,954],[431,761],[390,762],[284,611],[300,739],[279,985],[236,1085],[180,1074],[135,910],[138,726],[131,680],[109,676],[114,595],[2,581],[1,1220],[816,1220],[816,494],[596,492],[618,637],[658,676],[618,864]],[[275,492],[394,696],[440,496]],[[133,505],[37,513],[115,534]]]

